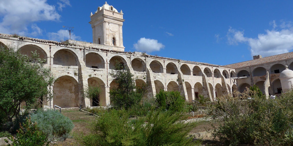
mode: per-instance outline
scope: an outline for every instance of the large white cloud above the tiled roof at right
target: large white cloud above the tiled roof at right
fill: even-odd
[[[277,25],[275,24],[275,28],[276,27]],[[227,33],[227,39],[230,45],[246,43],[250,47],[251,55],[262,55],[263,57],[287,53],[293,49],[292,27],[283,27],[283,29],[279,31],[265,30],[265,34],[258,34],[257,38],[244,37],[244,31],[239,31],[230,27]]]

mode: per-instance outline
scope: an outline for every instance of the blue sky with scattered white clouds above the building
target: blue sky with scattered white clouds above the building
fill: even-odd
[[[107,1],[123,11],[125,51],[227,65],[293,49],[293,1]],[[105,1],[0,0],[0,33],[92,42]],[[136,45],[135,45],[136,44]],[[150,44],[150,45],[149,45]],[[142,47],[143,46],[143,47]]]

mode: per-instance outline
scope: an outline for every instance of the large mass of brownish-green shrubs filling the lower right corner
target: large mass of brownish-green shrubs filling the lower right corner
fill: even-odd
[[[293,91],[273,100],[263,98],[258,90],[217,98],[209,112],[223,124],[213,136],[229,145],[292,145]]]

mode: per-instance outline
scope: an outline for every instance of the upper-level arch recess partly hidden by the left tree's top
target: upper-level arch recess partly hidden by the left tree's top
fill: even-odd
[[[44,51],[44,49],[42,49],[41,47],[37,46],[37,45],[32,45],[32,44],[28,44],[28,45],[24,45],[21,46],[19,48],[19,51],[21,54],[23,55],[27,55],[29,57],[32,56],[31,51],[36,51],[40,56],[39,58],[41,59],[45,59],[45,63],[47,63],[47,53]]]

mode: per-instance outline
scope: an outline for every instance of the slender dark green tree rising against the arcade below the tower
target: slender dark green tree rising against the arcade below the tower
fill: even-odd
[[[118,84],[118,87],[112,88],[109,92],[111,105],[117,108],[123,107],[128,109],[132,105],[136,105],[140,102],[145,91],[143,91],[142,88],[135,90],[134,75],[129,69],[125,69],[117,60],[115,69],[116,70],[111,72],[110,75]]]

